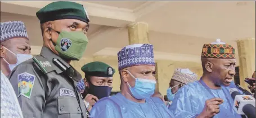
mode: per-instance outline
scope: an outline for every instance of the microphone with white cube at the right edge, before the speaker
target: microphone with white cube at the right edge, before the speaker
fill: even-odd
[[[239,115],[246,115],[248,118],[256,117],[255,99],[250,95],[241,95],[237,88],[230,88],[230,95],[234,100],[233,110]]]

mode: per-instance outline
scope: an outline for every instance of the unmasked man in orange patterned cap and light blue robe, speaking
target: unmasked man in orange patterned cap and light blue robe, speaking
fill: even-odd
[[[203,76],[178,90],[169,110],[176,117],[241,117],[233,110],[229,90],[235,72],[235,49],[217,40],[204,44],[201,53]]]

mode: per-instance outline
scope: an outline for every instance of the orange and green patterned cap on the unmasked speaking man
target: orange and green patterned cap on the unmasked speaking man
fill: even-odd
[[[204,44],[201,58],[235,59],[235,49],[217,39],[215,43]]]

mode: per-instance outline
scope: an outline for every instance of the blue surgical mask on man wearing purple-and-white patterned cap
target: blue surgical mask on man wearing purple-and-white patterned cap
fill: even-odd
[[[129,71],[127,71],[131,74]],[[127,82],[132,96],[138,100],[149,98],[155,92],[156,81],[150,79],[135,78],[132,74],[131,76],[135,79],[135,86],[131,87]]]

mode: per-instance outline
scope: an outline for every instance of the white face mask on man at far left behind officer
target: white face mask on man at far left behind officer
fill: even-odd
[[[3,46],[4,47],[4,46]],[[5,47],[4,47],[5,48]],[[5,62],[9,65],[10,70],[12,71],[17,65],[19,65],[20,63],[25,62],[26,60],[29,60],[31,58],[33,58],[33,56],[31,54],[15,54],[14,52],[12,52],[11,50],[5,48],[6,50],[10,51],[10,53],[14,54],[17,58],[17,63],[16,64],[10,64],[8,63],[5,58],[3,58],[3,60],[5,60]]]

